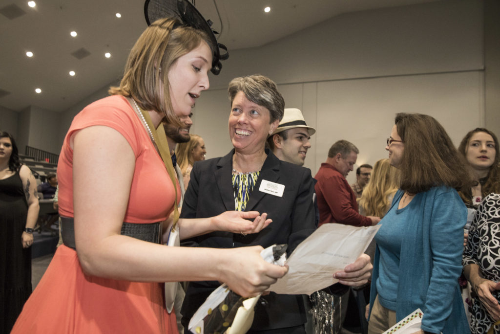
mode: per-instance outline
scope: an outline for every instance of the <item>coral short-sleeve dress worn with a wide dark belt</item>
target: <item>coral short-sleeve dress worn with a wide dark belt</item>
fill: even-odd
[[[98,100],[74,118],[57,167],[59,213],[73,217],[70,137],[75,131],[94,125],[118,131],[135,155],[124,221],[165,220],[173,209],[175,189],[139,118],[122,96]],[[64,245],[57,248],[12,330],[23,334],[138,332],[177,333],[175,314],[168,314],[164,306],[163,284],[86,275],[76,251]]]

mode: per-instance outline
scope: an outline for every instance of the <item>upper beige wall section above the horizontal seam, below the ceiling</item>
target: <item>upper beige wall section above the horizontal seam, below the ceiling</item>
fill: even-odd
[[[342,14],[261,48],[229,52],[212,88],[260,73],[276,83],[483,68],[482,2],[440,1]]]

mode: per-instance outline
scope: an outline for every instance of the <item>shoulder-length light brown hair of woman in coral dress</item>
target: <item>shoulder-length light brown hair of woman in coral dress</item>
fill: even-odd
[[[109,94],[131,97],[143,110],[155,110],[165,116],[167,123],[182,127],[170,101],[168,70],[202,41],[211,48],[204,32],[172,18],[156,20],[135,42],[120,86],[110,87]]]

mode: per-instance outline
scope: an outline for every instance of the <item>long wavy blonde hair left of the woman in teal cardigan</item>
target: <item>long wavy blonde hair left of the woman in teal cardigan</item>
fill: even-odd
[[[397,191],[399,171],[389,163],[389,159],[375,162],[371,178],[363,189],[359,206],[366,216],[383,217],[389,209],[391,198]]]

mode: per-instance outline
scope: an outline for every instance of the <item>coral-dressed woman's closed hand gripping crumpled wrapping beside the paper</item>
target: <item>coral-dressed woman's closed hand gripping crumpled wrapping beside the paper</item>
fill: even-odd
[[[271,264],[262,259],[261,246],[227,249],[220,264],[221,281],[242,297],[262,293],[288,271],[288,266]]]

